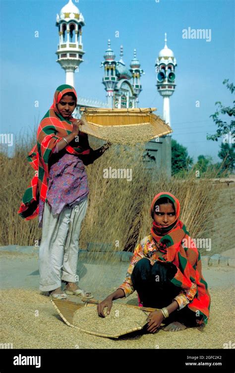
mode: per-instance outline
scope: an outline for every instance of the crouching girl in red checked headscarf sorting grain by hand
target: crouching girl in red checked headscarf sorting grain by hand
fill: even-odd
[[[114,300],[136,290],[142,306],[159,309],[148,316],[148,332],[156,332],[161,323],[165,331],[205,325],[210,294],[201,273],[200,253],[179,220],[179,201],[161,192],[150,211],[151,234],[135,248],[123,284],[97,306],[98,314],[105,317],[104,308],[109,314]]]

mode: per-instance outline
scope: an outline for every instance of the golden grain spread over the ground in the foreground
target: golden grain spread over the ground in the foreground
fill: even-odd
[[[0,291],[0,342],[13,348],[195,348],[221,349],[235,341],[232,300],[234,287],[212,289],[211,319],[202,329],[177,332],[160,330],[155,334],[135,332],[116,340],[98,337],[70,328],[60,318],[50,299],[39,291]],[[128,298],[125,300],[128,301]],[[116,302],[114,302],[116,307]]]

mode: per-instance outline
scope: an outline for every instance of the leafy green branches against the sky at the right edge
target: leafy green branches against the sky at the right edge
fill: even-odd
[[[233,94],[235,91],[235,85],[233,83],[229,84],[229,79],[225,79],[223,84],[226,84],[227,88]],[[222,121],[219,116],[227,114],[229,117],[235,117],[235,101],[233,101],[234,107],[230,108],[229,106],[223,106],[220,101],[217,101],[215,105],[217,110],[215,114],[210,115],[210,118],[213,118],[214,123],[218,126],[218,129],[214,135],[207,135],[207,140],[218,141],[218,138],[226,137],[230,135],[230,138],[234,136],[235,120],[232,119],[230,123]]]

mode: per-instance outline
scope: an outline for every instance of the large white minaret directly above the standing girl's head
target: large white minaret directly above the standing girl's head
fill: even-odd
[[[57,62],[65,70],[66,84],[74,87],[74,72],[79,69],[85,53],[82,44],[82,27],[85,26],[85,22],[72,0],[69,0],[57,14],[56,26],[59,28]]]

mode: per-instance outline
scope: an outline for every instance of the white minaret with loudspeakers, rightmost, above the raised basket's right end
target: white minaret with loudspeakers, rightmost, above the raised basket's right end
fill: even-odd
[[[163,119],[171,125],[170,96],[175,91],[175,67],[176,58],[167,46],[167,34],[165,33],[165,47],[159,52],[155,68],[157,72],[157,90],[163,96]]]

